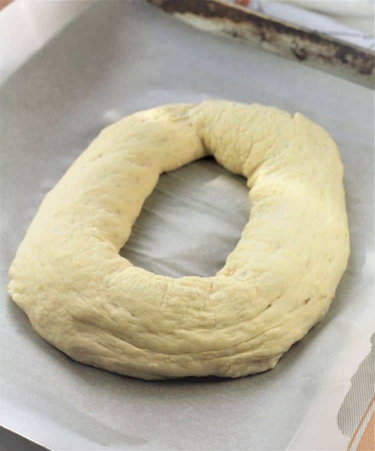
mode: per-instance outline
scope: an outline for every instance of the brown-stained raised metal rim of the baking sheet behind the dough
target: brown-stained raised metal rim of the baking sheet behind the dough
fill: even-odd
[[[198,28],[325,70],[364,86],[375,84],[375,53],[327,34],[223,0],[148,0]]]

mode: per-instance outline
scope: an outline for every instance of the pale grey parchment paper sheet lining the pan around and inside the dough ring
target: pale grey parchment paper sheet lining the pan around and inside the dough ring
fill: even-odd
[[[5,292],[41,199],[108,123],[207,98],[300,111],[336,140],[351,256],[331,309],[274,370],[243,379],[145,382],[72,361],[32,331]],[[196,30],[146,2],[98,1],[2,85],[0,106],[2,425],[53,450],[284,450],[321,402],[334,443],[345,446],[335,423],[341,400],[332,412],[329,403],[332,385],[349,387],[352,373],[331,375],[360,318],[373,315],[372,91]],[[159,274],[212,275],[249,208],[243,179],[209,159],[192,163],[160,177],[121,253]]]

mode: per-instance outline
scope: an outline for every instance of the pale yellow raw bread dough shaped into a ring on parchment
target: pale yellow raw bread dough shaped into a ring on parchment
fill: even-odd
[[[159,175],[205,155],[250,188],[225,266],[176,279],[132,266],[118,252]],[[79,362],[239,377],[273,368],[323,318],[348,254],[342,164],[323,128],[258,104],[166,105],[110,125],[77,158],[42,201],[8,292]]]

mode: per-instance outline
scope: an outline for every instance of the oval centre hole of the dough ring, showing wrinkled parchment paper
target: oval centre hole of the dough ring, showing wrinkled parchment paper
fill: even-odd
[[[202,158],[160,176],[119,254],[154,274],[214,276],[249,212],[245,179]]]

